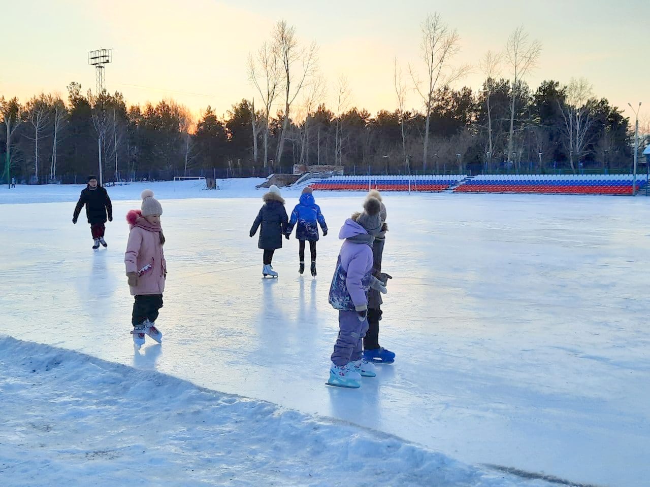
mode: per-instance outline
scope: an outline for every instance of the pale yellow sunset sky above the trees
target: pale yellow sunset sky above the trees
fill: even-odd
[[[627,108],[627,116],[634,118],[627,103],[639,101],[642,117],[650,116],[647,0],[0,0],[0,95],[66,97],[71,81],[94,90],[87,51],[103,47],[113,49],[107,90],[122,92],[128,103],[173,97],[197,113],[211,105],[223,115],[255,95],[246,58],[284,19],[302,44],[320,46],[330,107],[335,82],[346,77],[352,105],[373,114],[395,110],[393,59],[405,71],[409,62],[421,68],[420,23],[435,11],[460,34],[458,64],[477,65],[523,25],[543,45],[539,68],[526,80],[533,89],[544,79],[586,77],[597,97]],[[476,69],[454,87],[477,90],[483,78]],[[414,92],[407,105],[421,108]]]

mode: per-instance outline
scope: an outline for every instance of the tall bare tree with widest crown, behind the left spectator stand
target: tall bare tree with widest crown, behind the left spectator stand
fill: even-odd
[[[426,16],[426,20],[421,24],[421,30],[421,58],[426,67],[426,78],[424,82],[421,82],[415,68],[411,65],[409,65],[409,73],[411,79],[413,79],[415,90],[417,90],[424,102],[424,110],[426,110],[422,154],[422,169],[426,171],[429,123],[435,101],[435,92],[437,88],[447,86],[460,79],[469,73],[471,68],[467,64],[463,64],[458,68],[451,66],[452,58],[460,51],[460,36],[455,29],[449,29],[447,24],[443,23],[440,14],[436,12],[434,15]]]

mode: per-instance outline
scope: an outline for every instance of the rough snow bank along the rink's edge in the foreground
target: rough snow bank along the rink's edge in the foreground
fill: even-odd
[[[3,486],[548,485],[48,345],[0,337],[0,369]]]

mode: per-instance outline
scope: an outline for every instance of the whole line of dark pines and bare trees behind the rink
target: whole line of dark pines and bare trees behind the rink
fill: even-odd
[[[2,180],[73,182],[97,172],[100,153],[105,181],[267,175],[293,164],[342,165],[348,173],[631,168],[629,119],[595,97],[588,81],[528,86],[541,44],[523,28],[478,67],[454,62],[460,37],[439,14],[421,32],[419,62],[393,66],[387,90],[396,108],[374,115],[354,106],[346,79],[322,77],[317,44],[302,45],[285,21],[248,58],[254,95],[224,116],[211,106],[197,116],[173,99],[131,105],[120,92],[83,92],[77,82],[65,99],[0,95]],[[485,75],[481,88],[454,88],[472,69]],[[420,108],[406,108],[409,92]]]

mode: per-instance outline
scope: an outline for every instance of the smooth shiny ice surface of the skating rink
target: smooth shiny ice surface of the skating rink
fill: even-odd
[[[337,335],[328,288],[339,228],[363,195],[315,193],[330,227],[317,278],[298,275],[292,237],[276,251],[279,279],[264,280],[248,236],[263,192],[157,194],[164,339],[137,353],[124,216],[142,188],[131,201],[108,188],[114,221],[99,251],[84,212],[72,225],[81,187],[48,203],[3,197],[0,334],[344,419],[468,464],[647,485],[650,199],[384,194],[394,279],[380,342],[396,362],[344,390],[324,385]],[[283,191],[287,212],[299,194]]]

